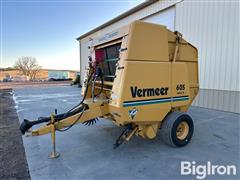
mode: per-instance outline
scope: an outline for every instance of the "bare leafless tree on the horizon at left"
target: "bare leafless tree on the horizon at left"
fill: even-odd
[[[37,59],[31,56],[23,56],[18,58],[14,67],[19,69],[22,74],[27,76],[31,81],[35,80],[36,74],[41,69],[41,66],[39,66],[37,63]]]

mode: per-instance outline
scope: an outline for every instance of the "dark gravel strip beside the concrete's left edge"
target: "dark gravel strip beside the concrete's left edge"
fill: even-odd
[[[0,179],[30,179],[11,89],[0,90]]]

